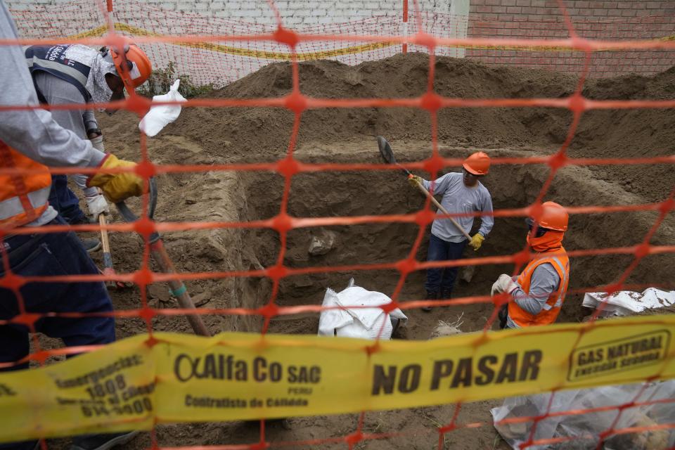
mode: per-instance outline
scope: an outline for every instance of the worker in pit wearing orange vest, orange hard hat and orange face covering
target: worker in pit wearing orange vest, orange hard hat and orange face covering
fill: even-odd
[[[570,258],[563,248],[568,220],[565,208],[554,202],[541,205],[536,219],[525,219],[527,243],[536,254],[515,281],[501,274],[492,285],[491,295],[510,295],[500,310],[501,328],[548,325],[560,314],[570,283]]]

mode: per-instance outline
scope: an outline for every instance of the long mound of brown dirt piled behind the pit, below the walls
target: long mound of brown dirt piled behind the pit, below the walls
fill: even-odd
[[[411,98],[427,89],[424,53],[397,55],[356,66],[319,60],[300,63],[300,91],[316,98]],[[439,57],[434,89],[453,98],[563,98],[577,77],[548,70],[491,67],[473,60]],[[589,79],[584,96],[598,100],[673,98],[675,69],[653,77],[626,75]],[[274,63],[208,94],[210,98],[276,98],[290,93],[290,63]],[[439,143],[480,148],[538,148],[551,153],[563,143],[572,121],[555,108],[445,108],[438,115]],[[283,108],[185,110],[170,133],[203,144],[224,161],[280,158],[288,148],[293,114]],[[430,140],[427,112],[413,108],[329,108],[302,115],[298,143],[354,141],[381,134],[387,139]],[[669,155],[675,140],[672,110],[591,110],[570,147],[572,157],[629,158]],[[627,190],[650,201],[671,188],[671,165],[593,167],[603,179],[622,179]],[[643,180],[650,179],[645,184]]]

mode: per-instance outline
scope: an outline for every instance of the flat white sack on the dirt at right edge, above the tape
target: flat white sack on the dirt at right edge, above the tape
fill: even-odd
[[[641,293],[621,290],[612,295],[607,293],[587,293],[584,295],[584,307],[598,309],[603,307],[603,316],[627,316],[645,309],[655,309],[675,304],[675,290],[648,288]]]

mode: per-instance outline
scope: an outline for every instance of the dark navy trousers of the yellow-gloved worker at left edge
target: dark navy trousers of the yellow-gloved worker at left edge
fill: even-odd
[[[65,224],[57,217],[50,224]],[[98,269],[72,231],[11,236],[4,240],[10,266],[20,276],[60,276],[98,274]],[[0,264],[0,276],[4,276]],[[113,311],[108,291],[96,283],[27,283],[20,288],[29,313]],[[0,288],[0,319],[19,314],[18,300],[12,290]],[[113,317],[43,317],[35,329],[51,338],[61,338],[67,346],[108,344],[115,341]],[[18,361],[29,353],[29,329],[18,323],[0,325],[0,362]],[[0,370],[25,369],[28,363]],[[36,442],[0,444],[0,449],[34,449]]]

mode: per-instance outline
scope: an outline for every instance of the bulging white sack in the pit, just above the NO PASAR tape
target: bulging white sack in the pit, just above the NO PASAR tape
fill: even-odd
[[[373,340],[378,337],[391,339],[394,329],[392,317],[397,320],[408,319],[398,308],[390,314],[385,314],[385,311],[378,308],[391,302],[392,299],[387,295],[354,286],[353,281],[350,281],[349,288],[340,293],[328,288],[323,297],[323,307],[335,309],[321,311],[319,335]]]

